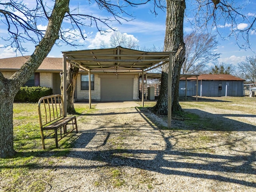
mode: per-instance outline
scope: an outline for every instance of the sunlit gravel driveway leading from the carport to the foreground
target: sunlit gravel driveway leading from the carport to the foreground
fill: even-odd
[[[54,172],[47,190],[256,191],[256,124],[240,123],[240,130],[225,133],[199,132],[160,130],[150,119],[166,125],[138,108],[100,109],[80,116],[75,147],[67,157],[53,158],[52,166],[42,170]],[[176,127],[182,127],[181,123],[173,120]],[[198,134],[211,139],[198,140]]]

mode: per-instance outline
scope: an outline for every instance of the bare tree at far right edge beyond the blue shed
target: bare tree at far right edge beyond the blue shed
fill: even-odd
[[[241,78],[256,83],[256,55],[246,57],[245,62],[238,63],[237,70]]]

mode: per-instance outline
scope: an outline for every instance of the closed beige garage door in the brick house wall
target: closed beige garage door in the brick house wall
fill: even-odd
[[[101,101],[132,101],[133,78],[101,78],[100,79]]]

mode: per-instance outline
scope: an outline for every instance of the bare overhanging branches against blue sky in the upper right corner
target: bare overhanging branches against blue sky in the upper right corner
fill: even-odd
[[[240,48],[250,48],[249,35],[256,32],[256,14],[243,13],[243,8],[249,1],[234,0],[196,0],[192,6],[194,18],[190,22],[198,30],[217,32],[223,39],[234,36]],[[240,28],[239,24],[245,23],[246,27]],[[228,35],[220,32],[221,28],[230,27]]]

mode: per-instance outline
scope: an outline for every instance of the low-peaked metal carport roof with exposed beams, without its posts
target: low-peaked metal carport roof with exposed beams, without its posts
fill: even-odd
[[[144,52],[118,46],[108,49],[63,51],[66,61],[90,72],[144,72],[169,62],[175,52]]]

